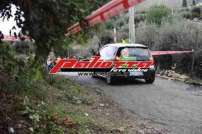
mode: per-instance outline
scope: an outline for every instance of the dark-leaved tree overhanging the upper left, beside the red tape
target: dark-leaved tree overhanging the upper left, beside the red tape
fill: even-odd
[[[58,46],[58,39],[64,38],[68,26],[107,1],[3,0],[0,3],[0,17],[9,19],[12,16],[11,4],[16,5],[15,20],[18,27],[22,28],[23,33],[29,31],[36,41],[37,55],[45,57],[51,47]]]

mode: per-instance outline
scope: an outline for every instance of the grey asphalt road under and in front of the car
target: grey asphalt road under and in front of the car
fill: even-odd
[[[162,125],[172,134],[202,134],[202,87],[161,78],[154,84],[119,80],[117,85],[109,86],[90,76],[67,77],[102,89],[122,108]]]

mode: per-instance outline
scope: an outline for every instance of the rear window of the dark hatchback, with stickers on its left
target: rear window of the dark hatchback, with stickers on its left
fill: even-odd
[[[121,48],[119,51],[119,57],[121,60],[135,60],[135,61],[146,61],[150,58],[150,53],[147,48]]]

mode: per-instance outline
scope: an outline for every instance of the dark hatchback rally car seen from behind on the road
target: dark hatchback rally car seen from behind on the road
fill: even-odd
[[[145,62],[150,61],[151,64],[146,69],[135,71],[109,71],[107,73],[94,72],[93,77],[104,77],[108,84],[113,84],[117,79],[144,79],[146,83],[153,83],[155,81],[155,65],[154,59],[147,46],[141,44],[107,44],[99,51],[101,59],[104,61],[132,61]]]

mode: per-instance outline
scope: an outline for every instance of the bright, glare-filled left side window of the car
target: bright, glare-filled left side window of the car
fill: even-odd
[[[100,50],[101,59],[110,60],[114,58],[116,52],[115,47],[107,46]]]

